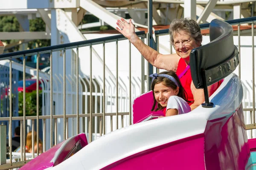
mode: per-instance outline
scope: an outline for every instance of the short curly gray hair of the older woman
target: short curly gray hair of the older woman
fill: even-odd
[[[179,31],[190,33],[197,45],[201,46],[203,36],[201,34],[200,26],[195,20],[192,20],[191,18],[180,18],[172,21],[169,27],[170,41],[172,45],[174,44],[174,34]]]

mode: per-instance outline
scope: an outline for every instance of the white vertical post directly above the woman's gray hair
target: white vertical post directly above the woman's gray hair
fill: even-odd
[[[184,1],[184,18],[186,17],[196,20],[196,0]]]

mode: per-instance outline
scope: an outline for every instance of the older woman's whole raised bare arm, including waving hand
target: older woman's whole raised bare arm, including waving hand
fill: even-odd
[[[180,57],[177,54],[168,54],[163,55],[155,51],[153,48],[146,45],[136,34],[134,25],[129,20],[129,23],[126,22],[123,18],[121,20],[117,20],[116,22],[117,31],[123,34],[128,40],[140,51],[143,57],[154,65],[156,68],[177,71],[177,66]],[[122,30],[120,29],[122,28]]]

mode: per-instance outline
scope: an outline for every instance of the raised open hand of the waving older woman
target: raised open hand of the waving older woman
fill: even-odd
[[[117,31],[119,31],[121,34],[123,34],[128,40],[131,40],[132,37],[134,37],[135,34],[135,28],[133,23],[131,22],[131,19],[129,20],[129,23],[123,18],[121,20],[117,20],[116,27]]]

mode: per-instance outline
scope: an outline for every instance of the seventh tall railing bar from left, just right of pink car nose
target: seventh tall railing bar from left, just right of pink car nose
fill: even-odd
[[[90,45],[90,125],[89,143],[93,139],[93,71],[92,71],[92,45]]]

